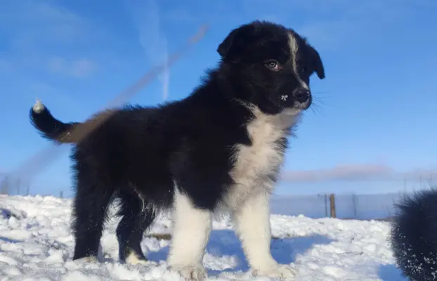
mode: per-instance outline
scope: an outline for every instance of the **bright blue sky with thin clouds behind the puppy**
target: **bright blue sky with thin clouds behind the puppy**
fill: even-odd
[[[397,191],[403,178],[417,188],[437,171],[436,1],[90,3],[0,0],[0,171],[50,146],[28,121],[35,98],[65,122],[82,121],[208,23],[204,39],[131,102],[184,98],[216,65],[226,34],[255,19],[294,28],[325,63],[326,79],[311,81],[316,105],[291,140],[279,194]],[[61,148],[37,176],[29,173],[39,162],[20,169],[32,193],[71,194],[68,153]]]

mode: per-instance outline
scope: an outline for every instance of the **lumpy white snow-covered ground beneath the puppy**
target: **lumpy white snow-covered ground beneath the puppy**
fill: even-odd
[[[406,281],[386,242],[388,223],[272,215],[274,258],[292,263],[297,280]],[[70,200],[0,195],[0,280],[181,280],[166,268],[169,241],[145,237],[147,266],[117,261],[115,223],[103,234],[102,263],[71,261]],[[160,218],[151,233],[169,233]],[[270,280],[247,272],[240,242],[227,218],[214,222],[204,256],[209,280]]]

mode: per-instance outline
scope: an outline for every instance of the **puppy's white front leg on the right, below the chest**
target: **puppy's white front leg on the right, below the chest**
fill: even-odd
[[[270,254],[268,198],[266,192],[251,195],[234,211],[237,235],[254,275],[294,280],[295,271],[288,265],[278,264]]]

